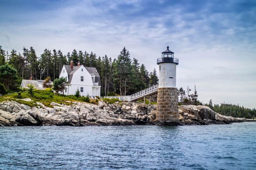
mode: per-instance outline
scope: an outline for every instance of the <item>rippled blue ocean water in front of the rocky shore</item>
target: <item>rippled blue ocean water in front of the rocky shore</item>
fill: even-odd
[[[0,169],[256,169],[256,122],[0,127]]]

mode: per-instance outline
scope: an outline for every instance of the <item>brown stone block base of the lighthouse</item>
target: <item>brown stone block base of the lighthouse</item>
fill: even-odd
[[[156,119],[163,125],[178,125],[178,93],[174,87],[159,87],[157,93]]]

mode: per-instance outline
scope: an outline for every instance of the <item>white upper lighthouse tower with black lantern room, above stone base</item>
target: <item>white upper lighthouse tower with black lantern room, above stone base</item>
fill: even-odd
[[[179,59],[174,58],[174,52],[167,50],[162,52],[162,58],[157,59],[159,65],[159,87],[176,87],[176,65]]]

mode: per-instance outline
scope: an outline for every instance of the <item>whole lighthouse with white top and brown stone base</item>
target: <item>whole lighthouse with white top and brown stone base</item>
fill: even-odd
[[[159,86],[157,90],[156,119],[164,125],[177,125],[179,121],[178,93],[176,88],[176,66],[179,60],[167,49],[157,59]]]

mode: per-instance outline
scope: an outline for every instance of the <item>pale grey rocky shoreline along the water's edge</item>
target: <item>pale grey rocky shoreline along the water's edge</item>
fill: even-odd
[[[83,102],[72,102],[70,105],[52,102],[51,105],[52,108],[37,102],[37,107],[31,108],[15,101],[3,101],[0,103],[0,126],[161,125],[156,120],[156,105],[148,106],[137,102],[109,104],[103,101],[99,101],[98,105]],[[256,119],[223,116],[202,105],[179,106],[178,125],[230,124],[243,121]]]

